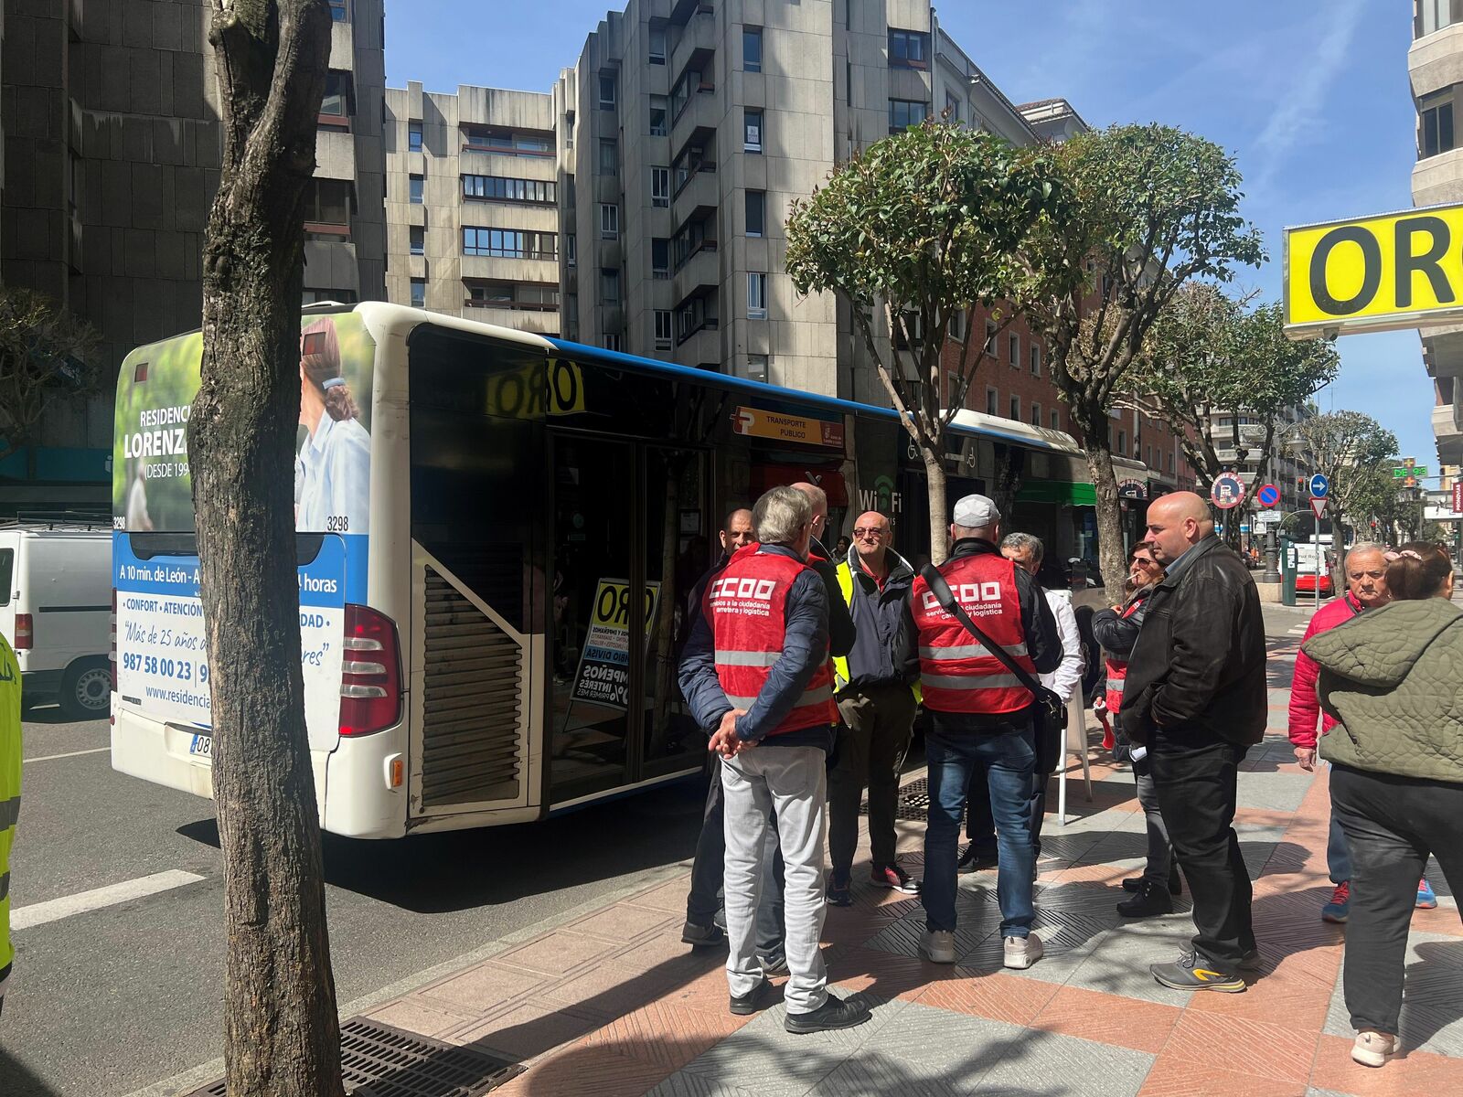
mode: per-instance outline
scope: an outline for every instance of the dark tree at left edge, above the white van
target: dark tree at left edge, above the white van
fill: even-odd
[[[89,323],[45,294],[0,287],[0,461],[35,440],[57,399],[101,391],[99,344]]]

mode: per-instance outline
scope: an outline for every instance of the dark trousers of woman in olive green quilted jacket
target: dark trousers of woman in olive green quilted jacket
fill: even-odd
[[[1331,810],[1352,854],[1346,1009],[1353,1028],[1396,1036],[1407,927],[1428,854],[1438,859],[1454,895],[1463,888],[1463,784],[1337,765]]]

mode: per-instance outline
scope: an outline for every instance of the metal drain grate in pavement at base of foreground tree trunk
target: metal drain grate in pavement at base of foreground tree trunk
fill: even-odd
[[[519,1066],[471,1047],[353,1017],[341,1024],[341,1077],[351,1097],[478,1097]],[[219,1079],[187,1097],[225,1097]]]

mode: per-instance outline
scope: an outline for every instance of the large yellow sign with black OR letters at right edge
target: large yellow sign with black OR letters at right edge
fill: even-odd
[[[1293,339],[1460,316],[1463,205],[1285,231],[1285,329]]]

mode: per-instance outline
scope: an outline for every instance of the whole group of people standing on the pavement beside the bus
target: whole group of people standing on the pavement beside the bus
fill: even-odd
[[[865,790],[870,883],[920,897],[925,960],[957,961],[958,876],[990,867],[1005,967],[1042,960],[1045,791],[1084,670],[1071,594],[1037,585],[1040,540],[1004,534],[993,500],[960,499],[948,557],[920,569],[875,510],[830,554],[827,513],[816,486],[794,484],[729,515],[679,668],[720,771],[683,939],[726,942],[733,1014],[770,1005],[770,976],[787,974],[791,1033],[869,1017],[828,993],[818,946],[827,907],[853,901]],[[1267,723],[1258,589],[1188,491],[1150,505],[1128,563],[1121,600],[1091,622],[1106,660],[1094,709],[1113,758],[1132,766],[1147,826],[1147,863],[1124,881],[1118,911],[1167,914],[1186,885],[1195,935],[1151,976],[1176,990],[1242,992],[1260,968],[1233,828],[1239,766]],[[1333,766],[1336,892],[1323,917],[1349,920],[1353,1058],[1380,1066],[1397,1050],[1409,911],[1435,904],[1418,883],[1428,854],[1463,882],[1463,739],[1447,685],[1463,611],[1437,546],[1355,546],[1346,579],[1296,661],[1290,739],[1302,768],[1317,755]],[[895,856],[894,821],[920,705],[929,813],[916,882]]]

